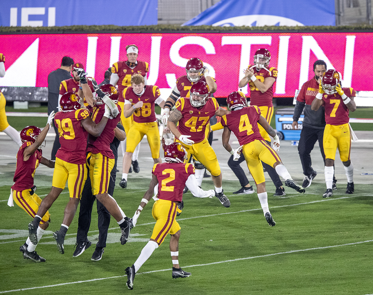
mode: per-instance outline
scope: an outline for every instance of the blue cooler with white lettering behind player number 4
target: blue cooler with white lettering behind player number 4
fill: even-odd
[[[298,129],[293,130],[294,107],[278,109],[275,113],[277,135],[280,140],[299,140],[301,136],[304,114],[298,120]]]

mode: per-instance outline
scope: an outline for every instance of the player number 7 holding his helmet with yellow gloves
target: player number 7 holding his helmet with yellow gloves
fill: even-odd
[[[330,69],[324,73],[319,85],[319,93],[317,93],[311,104],[311,110],[313,111],[319,110],[322,105],[325,107],[326,125],[323,135],[323,146],[326,191],[323,194],[324,198],[333,196],[333,165],[337,147],[347,176],[346,194],[354,193],[354,166],[350,159],[351,135],[348,113],[356,110],[355,95],[356,92],[351,87],[341,87],[339,73]]]

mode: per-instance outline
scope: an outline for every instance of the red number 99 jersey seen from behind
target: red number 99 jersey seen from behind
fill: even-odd
[[[54,115],[54,125],[60,134],[61,147],[56,157],[72,163],[84,164],[87,150],[88,132],[81,126],[80,121],[90,116],[86,109],[71,112],[57,112]]]

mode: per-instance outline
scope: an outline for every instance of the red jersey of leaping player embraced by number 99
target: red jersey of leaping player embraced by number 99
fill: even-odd
[[[112,143],[115,136],[115,127],[120,121],[120,112],[122,111],[119,105],[116,105],[119,110],[119,114],[114,119],[107,120],[106,126],[102,131],[101,135],[95,137],[90,135],[87,151],[92,153],[101,153],[110,159],[114,159],[113,151],[110,149],[110,143]],[[104,116],[105,105],[98,105],[93,107],[92,120],[97,124],[101,121]]]

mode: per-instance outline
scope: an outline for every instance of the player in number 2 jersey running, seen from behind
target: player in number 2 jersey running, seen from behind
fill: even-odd
[[[189,277],[191,273],[182,270],[179,265],[179,237],[181,227],[176,221],[178,204],[182,202],[185,183],[194,177],[194,166],[190,163],[184,164],[186,150],[180,143],[171,143],[164,149],[165,163],[156,163],[153,166],[153,177],[151,178],[149,189],[141,199],[140,206],[132,218],[133,225],[136,226],[137,219],[141,211],[153,196],[154,188],[158,194],[156,202],[151,211],[156,224],[150,241],[141,250],[140,256],[131,267],[126,268],[128,289],[134,287],[135,273],[138,272],[142,264],[148,260],[151,254],[164,241],[167,234],[170,234],[170,251],[172,259],[172,277]]]

